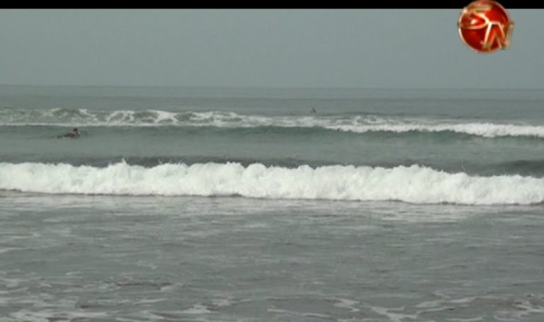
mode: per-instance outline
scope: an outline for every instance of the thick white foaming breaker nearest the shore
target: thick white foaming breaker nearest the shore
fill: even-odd
[[[299,166],[254,163],[125,162],[104,168],[0,163],[0,189],[51,194],[242,196],[266,199],[397,200],[417,204],[530,205],[544,201],[544,178],[469,176],[423,166]]]

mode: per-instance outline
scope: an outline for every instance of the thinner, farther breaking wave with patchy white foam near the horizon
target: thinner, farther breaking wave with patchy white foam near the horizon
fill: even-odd
[[[263,116],[233,112],[168,112],[162,110],[0,110],[0,125],[133,126],[133,127],[299,127],[343,132],[455,132],[479,137],[544,138],[544,125],[496,124],[387,118],[382,115]]]

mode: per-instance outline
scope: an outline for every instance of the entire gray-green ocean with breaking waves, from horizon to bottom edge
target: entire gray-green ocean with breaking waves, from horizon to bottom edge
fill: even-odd
[[[544,90],[0,86],[0,321],[544,321],[543,151]]]

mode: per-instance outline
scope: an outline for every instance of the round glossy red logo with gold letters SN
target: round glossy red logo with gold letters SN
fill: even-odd
[[[465,45],[480,53],[508,48],[514,30],[506,9],[489,0],[473,1],[463,8],[457,25]]]

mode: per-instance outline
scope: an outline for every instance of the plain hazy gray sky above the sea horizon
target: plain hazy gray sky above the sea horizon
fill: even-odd
[[[509,50],[441,10],[1,10],[0,84],[544,88],[544,10]]]

